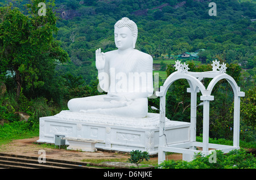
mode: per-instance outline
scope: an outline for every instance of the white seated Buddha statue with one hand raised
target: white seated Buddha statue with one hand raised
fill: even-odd
[[[117,50],[96,50],[96,67],[101,89],[107,95],[73,98],[68,102],[72,112],[106,114],[117,117],[144,118],[148,97],[153,92],[152,57],[134,49],[137,25],[122,18],[114,25]]]

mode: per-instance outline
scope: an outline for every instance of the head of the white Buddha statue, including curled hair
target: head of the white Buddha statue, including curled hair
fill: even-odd
[[[114,25],[115,45],[118,49],[135,48],[138,37],[137,25],[129,18],[122,18]]]

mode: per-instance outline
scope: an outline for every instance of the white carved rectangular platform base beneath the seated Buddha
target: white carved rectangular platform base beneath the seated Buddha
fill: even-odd
[[[167,144],[189,142],[190,123],[166,118]],[[38,142],[54,143],[55,134],[65,137],[97,139],[95,147],[105,150],[158,153],[159,114],[148,113],[146,118],[120,118],[100,114],[72,113],[64,110],[50,117],[40,118]],[[66,144],[69,143],[66,141]]]

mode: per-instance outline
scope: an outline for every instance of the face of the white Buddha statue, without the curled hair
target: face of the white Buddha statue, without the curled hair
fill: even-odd
[[[120,50],[133,48],[134,37],[128,27],[114,28],[115,46]]]

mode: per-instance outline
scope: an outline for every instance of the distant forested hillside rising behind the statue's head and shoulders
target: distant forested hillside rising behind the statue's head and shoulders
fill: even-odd
[[[115,49],[113,25],[127,16],[139,27],[137,49],[154,57],[205,49],[203,63],[220,57],[253,68],[256,27],[250,19],[255,19],[255,4],[214,2],[217,16],[209,16],[209,1],[56,1],[61,18],[56,38],[77,70],[94,61],[95,49]],[[84,68],[78,71],[89,83],[94,71],[86,76]]]

